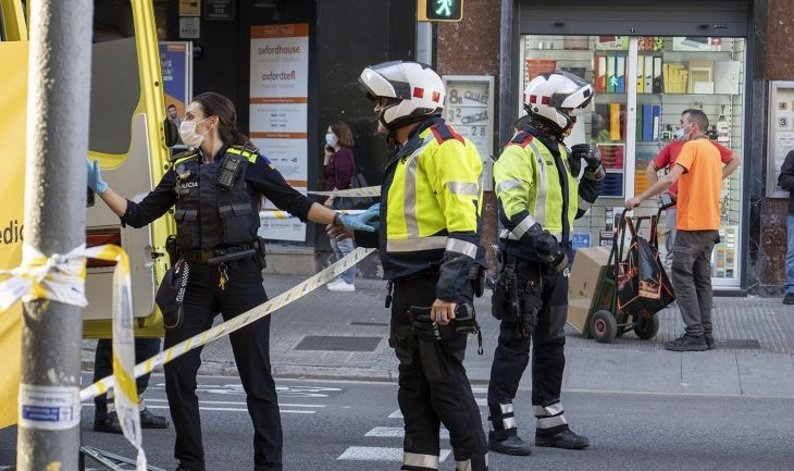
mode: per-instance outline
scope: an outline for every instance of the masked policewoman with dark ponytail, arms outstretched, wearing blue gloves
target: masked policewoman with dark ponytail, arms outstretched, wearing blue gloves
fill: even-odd
[[[231,319],[268,299],[259,253],[251,250],[259,244],[261,195],[301,221],[342,225],[343,216],[296,191],[264,156],[246,147],[248,139],[236,129],[235,121],[234,104],[227,98],[214,92],[194,98],[179,134],[195,150],[172,158],[172,169],[138,203],[113,193],[102,181],[97,162],[88,164],[89,186],[124,224],[142,227],[176,204],[178,246],[189,262],[190,280],[183,323],[165,333],[165,348],[209,329],[218,312]],[[229,335],[253,421],[257,471],[282,469],[282,427],[270,372],[269,336],[270,318]],[[196,397],[200,352],[196,348],[165,363],[177,471],[204,470]]]

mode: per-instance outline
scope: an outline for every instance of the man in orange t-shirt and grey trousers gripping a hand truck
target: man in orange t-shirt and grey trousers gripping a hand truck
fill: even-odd
[[[686,142],[673,169],[642,195],[625,201],[629,209],[670,188],[678,182],[678,234],[673,245],[672,283],[684,335],[665,344],[673,351],[703,351],[715,348],[711,310],[711,251],[719,241],[722,161],[720,152],[706,138],[708,117],[690,110],[681,120]]]

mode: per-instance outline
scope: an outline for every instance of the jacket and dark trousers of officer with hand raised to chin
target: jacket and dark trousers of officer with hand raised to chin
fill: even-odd
[[[494,164],[499,220],[505,227],[499,234],[500,245],[507,258],[516,262],[519,286],[529,282],[542,287],[542,307],[531,336],[522,335],[518,322],[503,320],[500,325],[488,384],[491,433],[498,442],[518,433],[512,399],[530,360],[531,340],[536,443],[568,429],[560,402],[568,277],[544,264],[543,255],[557,243],[572,259],[573,221],[597,198],[600,179],[585,171],[580,183],[578,173],[570,151],[531,126],[512,138]]]

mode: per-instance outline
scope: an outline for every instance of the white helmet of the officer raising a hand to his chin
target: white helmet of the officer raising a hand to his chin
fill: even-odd
[[[593,99],[593,86],[568,72],[548,72],[533,78],[524,90],[524,110],[565,132],[573,127],[570,110],[585,108]]]

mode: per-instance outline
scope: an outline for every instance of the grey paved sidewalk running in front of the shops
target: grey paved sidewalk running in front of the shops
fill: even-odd
[[[265,289],[272,297],[301,281],[299,276],[269,275]],[[385,287],[385,282],[374,280],[358,280],[355,293],[321,287],[274,312],[270,348],[274,374],[396,381],[397,360],[387,343]],[[472,383],[484,384],[498,322],[489,315],[487,293],[476,308],[485,354],[476,355],[472,336],[466,365]],[[680,335],[683,324],[675,307],[659,317],[660,331],[653,340],[629,333],[604,345],[568,327],[563,389],[794,396],[794,309],[780,299],[716,298],[716,351],[666,351],[662,344]],[[84,344],[85,363],[92,362],[92,344]],[[207,345],[201,356],[201,374],[236,375],[228,338]],[[525,374],[522,384],[529,386],[528,380]]]

